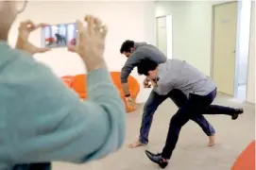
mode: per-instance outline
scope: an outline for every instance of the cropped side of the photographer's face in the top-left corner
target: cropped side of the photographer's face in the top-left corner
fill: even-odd
[[[0,40],[8,40],[10,26],[25,8],[26,1],[0,1]]]

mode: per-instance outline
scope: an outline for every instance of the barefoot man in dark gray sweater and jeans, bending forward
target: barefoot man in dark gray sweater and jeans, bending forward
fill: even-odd
[[[124,93],[126,95],[126,100],[128,106],[133,107],[135,102],[130,97],[128,92],[128,76],[133,70],[134,67],[138,66],[143,59],[150,59],[156,61],[157,63],[163,63],[166,61],[166,57],[162,54],[162,52],[155,46],[151,44],[146,44],[145,42],[133,42],[126,41],[123,42],[120,53],[125,55],[128,60],[124,67],[122,68],[121,73],[121,82],[123,86]],[[144,87],[150,88],[150,80],[146,77],[144,80]],[[148,133],[151,127],[151,123],[153,120],[153,114],[155,110],[162,104],[162,102],[166,98],[171,98],[178,108],[183,106],[183,103],[187,100],[187,96],[184,93],[181,93],[179,90],[172,90],[169,93],[165,93],[164,95],[160,95],[155,92],[153,89],[149,94],[145,102],[142,125],[140,129],[140,138],[133,144],[129,144],[129,147],[137,147],[140,145],[144,145],[148,143]],[[214,144],[214,128],[208,123],[203,115],[198,115],[196,117],[192,117],[191,120],[195,121],[199,127],[209,136],[209,146]]]

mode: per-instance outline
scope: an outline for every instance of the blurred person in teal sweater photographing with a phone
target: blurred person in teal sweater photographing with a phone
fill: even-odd
[[[51,161],[82,163],[117,150],[125,136],[125,107],[103,59],[107,27],[91,15],[84,19],[87,27],[77,21],[77,45],[69,51],[88,71],[88,100],[81,102],[32,58],[49,50],[27,41],[43,24],[21,23],[16,49],[9,46],[9,28],[25,8],[0,1],[0,170],[46,170]]]

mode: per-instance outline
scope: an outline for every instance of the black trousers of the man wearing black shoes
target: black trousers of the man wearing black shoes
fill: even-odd
[[[191,118],[201,114],[227,114],[232,115],[234,109],[211,105],[216,96],[216,90],[208,95],[190,94],[185,104],[177,111],[170,121],[165,146],[162,149],[162,158],[170,159],[179,139],[179,131]]]

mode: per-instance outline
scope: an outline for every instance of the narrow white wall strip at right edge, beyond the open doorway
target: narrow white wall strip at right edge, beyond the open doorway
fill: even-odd
[[[251,6],[247,101],[255,103],[255,2]]]

